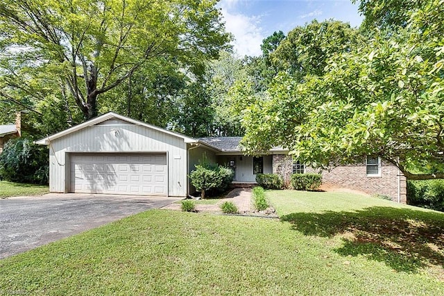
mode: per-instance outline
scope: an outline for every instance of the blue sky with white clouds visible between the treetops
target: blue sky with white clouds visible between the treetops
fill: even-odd
[[[226,31],[234,35],[234,51],[239,56],[262,54],[262,40],[317,19],[337,19],[359,26],[364,19],[351,0],[221,0]]]

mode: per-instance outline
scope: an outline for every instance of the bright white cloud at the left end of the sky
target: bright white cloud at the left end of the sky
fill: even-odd
[[[239,56],[259,56],[262,54],[260,46],[264,40],[263,30],[259,26],[261,17],[237,13],[234,10],[237,2],[239,0],[221,1],[225,29],[234,35],[232,44]]]

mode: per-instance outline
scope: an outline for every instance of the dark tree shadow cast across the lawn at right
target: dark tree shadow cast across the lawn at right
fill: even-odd
[[[340,235],[343,256],[364,255],[393,270],[444,268],[444,214],[374,206],[359,211],[291,213],[281,217],[307,236]]]

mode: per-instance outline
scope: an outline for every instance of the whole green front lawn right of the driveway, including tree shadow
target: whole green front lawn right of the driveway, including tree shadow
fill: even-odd
[[[437,261],[443,256],[443,214],[350,194],[267,195],[284,213],[281,221],[153,210],[3,259],[0,294],[444,294],[444,260]],[[399,246],[373,247],[379,237],[353,238],[359,231],[402,231],[409,221],[427,240],[403,249],[404,255],[395,251]],[[400,226],[384,228],[387,222]],[[398,234],[413,242],[416,233]],[[427,242],[436,251],[427,258],[416,254],[422,250],[414,247]]]

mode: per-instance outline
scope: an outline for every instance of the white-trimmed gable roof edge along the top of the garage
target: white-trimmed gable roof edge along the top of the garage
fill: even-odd
[[[198,140],[194,139],[194,138],[189,138],[186,135],[182,135],[180,133],[175,133],[173,131],[168,131],[167,129],[162,129],[158,126],[152,125],[152,124],[147,124],[145,122],[141,122],[139,120],[133,120],[130,117],[126,117],[123,115],[119,115],[117,113],[114,112],[109,112],[109,113],[105,113],[99,117],[95,117],[92,120],[88,120],[86,122],[83,122],[81,124],[78,124],[76,126],[72,126],[69,129],[65,129],[65,131],[60,131],[59,133],[54,133],[53,135],[49,135],[46,138],[42,138],[40,140],[35,141],[35,144],[38,145],[49,145],[49,143],[53,140],[56,140],[58,138],[62,138],[65,135],[69,135],[70,133],[75,133],[76,131],[80,131],[81,129],[85,129],[88,126],[94,126],[96,124],[100,124],[101,122],[105,122],[106,120],[110,120],[112,118],[115,118],[117,120],[122,120],[124,122],[128,122],[130,124],[137,124],[140,126],[145,126],[148,129],[154,129],[155,131],[160,131],[162,133],[167,133],[169,135],[173,135],[175,137],[178,138],[182,138],[184,140],[185,143],[195,143],[198,142]]]

